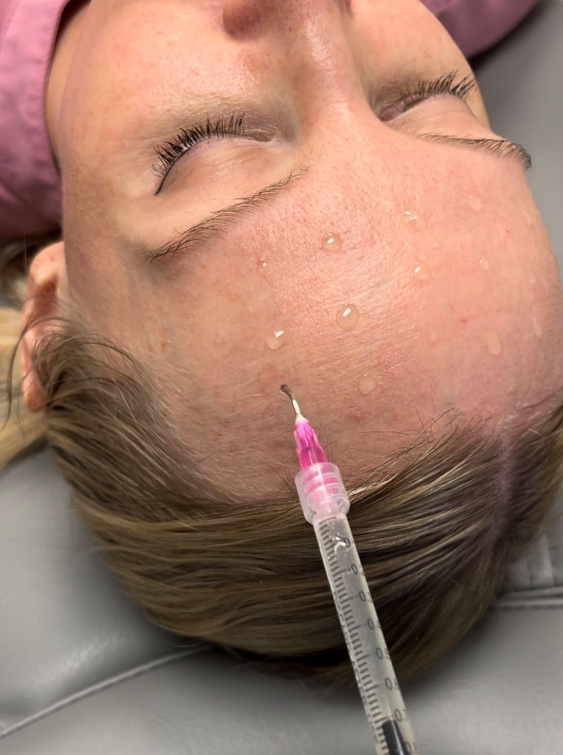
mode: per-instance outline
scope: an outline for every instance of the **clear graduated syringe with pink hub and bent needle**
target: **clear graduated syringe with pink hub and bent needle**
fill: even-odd
[[[287,385],[280,390],[288,394],[296,414],[294,439],[301,469],[295,484],[299,500],[307,522],[315,529],[361,701],[374,734],[376,755],[418,753],[349,528],[346,514],[350,504],[340,470],[327,461],[294,394]]]

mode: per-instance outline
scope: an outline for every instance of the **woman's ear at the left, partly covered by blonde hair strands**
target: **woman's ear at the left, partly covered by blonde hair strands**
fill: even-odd
[[[63,280],[66,280],[64,242],[57,242],[38,251],[29,267],[22,330],[30,319],[47,319],[56,315]],[[29,411],[42,411],[45,408],[45,390],[35,370],[31,370],[31,364],[32,353],[38,341],[52,328],[51,322],[39,322],[26,332],[20,342],[23,399]]]

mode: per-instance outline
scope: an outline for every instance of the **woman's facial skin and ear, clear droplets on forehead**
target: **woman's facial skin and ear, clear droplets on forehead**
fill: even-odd
[[[472,73],[420,0],[72,6],[46,113],[64,242],[28,293],[72,301],[140,359],[233,498],[283,493],[295,471],[282,383],[344,476],[448,410],[503,427],[561,384],[561,285],[525,171],[420,139],[502,138],[478,88],[401,105],[450,72]],[[152,170],[180,129],[242,112],[244,136],[195,144],[164,182]],[[220,234],[143,260],[289,174]],[[33,374],[24,388],[40,408]]]

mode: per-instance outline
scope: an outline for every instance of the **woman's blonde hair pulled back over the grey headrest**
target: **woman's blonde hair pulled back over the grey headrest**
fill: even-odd
[[[37,243],[37,248],[40,246]],[[2,274],[1,464],[47,446],[124,592],[154,624],[263,670],[355,686],[311,525],[284,500],[233,506],[195,472],[143,365],[54,318],[33,367],[48,397],[21,401],[16,350],[25,265]],[[549,526],[563,405],[502,434],[479,420],[432,430],[345,479],[354,533],[398,680],[420,676],[485,616],[509,565]],[[556,400],[555,400],[556,399]],[[544,402],[545,404],[545,402]],[[17,412],[11,410],[16,407]]]

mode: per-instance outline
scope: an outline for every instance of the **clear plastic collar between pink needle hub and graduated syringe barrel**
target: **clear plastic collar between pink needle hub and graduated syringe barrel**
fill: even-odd
[[[311,464],[297,473],[295,485],[309,524],[318,515],[348,513],[350,502],[336,464],[329,461]]]

